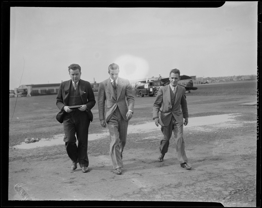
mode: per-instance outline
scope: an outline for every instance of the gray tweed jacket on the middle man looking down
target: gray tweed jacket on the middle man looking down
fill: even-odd
[[[127,102],[126,102],[126,100]],[[118,77],[117,97],[114,92],[110,78],[99,83],[98,86],[98,110],[99,120],[106,122],[111,118],[114,110],[118,106],[122,117],[127,121],[126,114],[129,110],[134,111],[135,99],[131,84],[127,79]]]

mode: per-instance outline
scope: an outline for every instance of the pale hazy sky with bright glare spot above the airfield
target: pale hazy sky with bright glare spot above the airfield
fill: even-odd
[[[11,7],[9,89],[70,79],[99,83],[108,66],[129,80],[253,75],[257,2],[219,8]]]

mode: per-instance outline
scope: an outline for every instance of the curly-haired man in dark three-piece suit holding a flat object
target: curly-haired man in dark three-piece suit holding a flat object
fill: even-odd
[[[64,142],[67,154],[72,160],[71,170],[75,170],[79,162],[82,172],[88,172],[88,128],[93,120],[91,108],[96,101],[90,83],[80,79],[81,67],[71,64],[68,71],[71,79],[60,84],[56,105],[63,112]],[[79,107],[72,110],[70,106]]]

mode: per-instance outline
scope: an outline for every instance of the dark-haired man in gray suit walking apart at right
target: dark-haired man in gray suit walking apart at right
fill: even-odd
[[[180,80],[180,71],[172,69],[170,71],[170,84],[161,87],[157,92],[156,100],[153,107],[153,119],[155,124],[161,125],[163,138],[160,142],[159,162],[163,161],[165,154],[168,151],[169,140],[174,133],[176,142],[177,158],[181,167],[190,169],[187,164],[188,159],[185,154],[185,143],[183,139],[183,124],[188,124],[187,100],[185,96],[185,87],[178,85]],[[160,110],[162,106],[162,110]],[[159,113],[160,111],[160,119]],[[183,118],[185,119],[183,121]]]

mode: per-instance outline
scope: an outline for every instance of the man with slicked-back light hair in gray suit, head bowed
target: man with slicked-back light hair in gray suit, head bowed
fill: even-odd
[[[117,64],[110,64],[108,73],[110,77],[99,83],[98,86],[99,119],[102,127],[105,128],[106,123],[108,125],[110,157],[114,173],[121,174],[122,152],[127,139],[128,121],[133,115],[135,99],[129,81],[118,77],[119,66]]]

